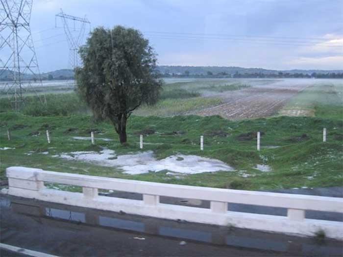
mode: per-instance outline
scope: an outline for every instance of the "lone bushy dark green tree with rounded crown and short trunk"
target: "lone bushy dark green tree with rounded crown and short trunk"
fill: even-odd
[[[123,26],[96,28],[79,53],[83,67],[75,70],[76,90],[97,119],[112,122],[124,144],[132,111],[159,98],[156,54],[140,31]]]

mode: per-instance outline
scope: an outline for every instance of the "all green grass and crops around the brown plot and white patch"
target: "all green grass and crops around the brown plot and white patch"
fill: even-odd
[[[141,116],[130,117],[127,146],[120,145],[108,121],[94,123],[84,103],[75,94],[48,97],[48,111],[42,111],[32,102],[27,104],[23,113],[13,113],[4,108],[4,101],[0,101],[0,147],[15,148],[0,150],[2,179],[6,167],[24,165],[60,172],[248,190],[343,184],[341,87],[309,87],[285,108],[293,110],[300,104],[310,106],[311,117],[278,116],[241,121],[230,121],[219,116],[157,117],[220,102],[220,99],[199,96],[193,88],[181,88],[165,93],[154,108],[143,106],[137,110],[136,114]],[[301,108],[305,108],[303,106]],[[327,142],[322,142],[323,127],[328,131]],[[7,140],[7,129],[11,131],[10,141]],[[51,132],[50,144],[46,140],[46,129]],[[89,137],[91,130],[98,131],[97,138],[113,141],[96,140],[96,145],[91,145],[89,140],[73,139],[74,136]],[[62,152],[98,152],[103,148],[115,150],[118,155],[136,153],[140,151],[139,134],[147,130],[153,133],[145,136],[144,150],[152,150],[159,159],[178,153],[198,155],[219,159],[235,171],[182,175],[181,178],[166,175],[167,170],[128,175],[115,167],[52,157]],[[263,132],[260,152],[256,150],[256,131]],[[205,138],[204,151],[199,149],[200,135]],[[256,168],[256,164],[268,165],[272,171],[263,172]],[[67,189],[79,190],[73,187]]]

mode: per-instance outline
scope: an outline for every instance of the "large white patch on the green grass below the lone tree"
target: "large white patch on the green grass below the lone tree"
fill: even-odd
[[[156,160],[152,151],[135,154],[116,155],[115,151],[104,149],[100,152],[71,152],[54,155],[67,160],[77,160],[106,167],[117,167],[127,174],[143,174],[149,171],[169,170],[179,174],[197,174],[203,172],[232,171],[229,165],[210,158],[196,155],[172,155]]]

